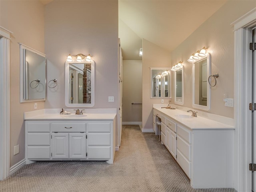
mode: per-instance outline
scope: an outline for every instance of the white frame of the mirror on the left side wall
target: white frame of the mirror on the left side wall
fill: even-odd
[[[47,85],[46,85],[46,55],[37,51],[37,50],[34,50],[24,44],[20,44],[20,103],[26,103],[26,102],[37,102],[37,101],[45,101],[46,100],[46,88],[47,88]],[[26,88],[26,61],[25,61],[25,50],[29,50],[31,52],[34,52],[40,56],[43,56],[45,58],[45,96],[44,98],[40,98],[40,99],[25,99],[24,98],[24,94],[26,93],[26,90],[24,90]]]

